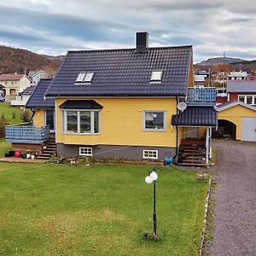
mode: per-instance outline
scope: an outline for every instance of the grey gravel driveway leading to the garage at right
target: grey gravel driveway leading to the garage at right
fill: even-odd
[[[256,255],[256,143],[215,141],[212,256]]]

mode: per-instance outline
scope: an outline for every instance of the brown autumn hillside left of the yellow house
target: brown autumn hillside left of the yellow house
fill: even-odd
[[[0,72],[1,73],[28,73],[30,70],[44,69],[55,74],[60,66],[61,58],[50,59],[45,55],[38,55],[27,49],[0,46]]]

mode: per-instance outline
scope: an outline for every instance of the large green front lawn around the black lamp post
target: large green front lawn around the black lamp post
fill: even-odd
[[[0,164],[0,255],[197,255],[207,181],[162,167]]]

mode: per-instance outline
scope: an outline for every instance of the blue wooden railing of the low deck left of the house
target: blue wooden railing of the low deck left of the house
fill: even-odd
[[[49,138],[49,126],[34,127],[31,124],[5,126],[5,139],[9,143],[40,144]]]

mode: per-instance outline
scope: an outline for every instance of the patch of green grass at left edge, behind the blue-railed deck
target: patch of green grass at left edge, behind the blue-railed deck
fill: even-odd
[[[8,102],[0,103],[0,119],[4,117],[9,125],[22,123],[22,120],[20,119],[22,112],[22,109],[15,108]]]

